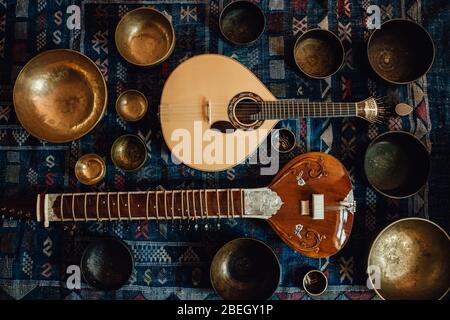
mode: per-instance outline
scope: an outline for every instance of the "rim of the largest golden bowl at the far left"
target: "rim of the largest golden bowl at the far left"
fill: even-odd
[[[41,57],[44,56],[44,55],[52,54],[52,53],[54,53],[54,52],[69,52],[70,54],[79,55],[79,56],[81,56],[82,58],[87,59],[88,62],[90,62],[90,64],[91,64],[92,66],[94,66],[94,68],[98,71],[98,74],[100,75],[100,78],[102,79],[102,83],[103,83],[103,86],[102,86],[103,88],[102,88],[102,89],[103,89],[103,91],[104,91],[104,93],[105,93],[105,96],[104,96],[104,103],[103,103],[103,106],[102,106],[102,111],[101,111],[101,113],[100,113],[98,119],[97,119],[97,120],[95,121],[95,123],[92,125],[92,127],[89,128],[89,130],[86,130],[86,132],[84,132],[83,134],[81,134],[81,135],[78,134],[78,135],[74,136],[73,138],[68,138],[68,139],[58,139],[58,140],[54,140],[54,139],[46,139],[46,138],[43,138],[42,135],[40,135],[40,134],[37,134],[37,133],[35,133],[35,132],[31,132],[30,129],[26,128],[26,127],[22,124],[22,119],[20,118],[19,114],[18,114],[17,111],[16,111],[16,98],[15,98],[15,96],[16,96],[16,94],[15,94],[15,91],[16,91],[16,84],[17,84],[17,81],[20,79],[20,77],[23,76],[23,73],[26,71],[26,67],[27,67],[31,62],[33,62],[34,60],[36,60],[36,59],[38,59],[38,58],[41,58]],[[51,142],[51,143],[67,143],[67,142],[72,142],[72,141],[81,139],[82,137],[84,137],[85,135],[87,135],[88,133],[90,133],[92,130],[94,130],[94,128],[95,128],[95,127],[99,124],[99,122],[103,119],[103,116],[104,116],[105,113],[106,113],[106,107],[107,107],[107,105],[108,105],[108,86],[106,85],[105,77],[104,77],[103,73],[101,72],[100,68],[97,66],[97,64],[96,64],[91,58],[89,58],[89,57],[88,57],[87,55],[85,55],[84,53],[82,53],[82,52],[80,52],[80,51],[77,51],[77,50],[73,50],[73,49],[67,49],[67,48],[57,48],[57,49],[49,49],[49,50],[45,50],[45,51],[42,51],[42,52],[38,53],[38,54],[35,55],[34,57],[32,57],[30,60],[28,60],[27,63],[25,63],[25,65],[23,66],[23,68],[20,70],[19,74],[17,75],[16,80],[14,81],[14,86],[13,86],[13,92],[12,92],[12,94],[13,94],[13,105],[14,105],[14,110],[15,110],[15,113],[16,113],[17,119],[19,120],[20,125],[21,125],[21,126],[22,126],[29,134],[31,134],[32,136],[34,136],[34,137],[36,137],[36,138],[38,138],[38,139],[40,139],[40,140],[48,141],[48,142]]]

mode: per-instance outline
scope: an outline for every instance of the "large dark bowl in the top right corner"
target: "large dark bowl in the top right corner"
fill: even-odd
[[[393,19],[371,34],[367,54],[370,66],[380,78],[394,84],[405,84],[430,70],[434,61],[434,44],[419,24]]]

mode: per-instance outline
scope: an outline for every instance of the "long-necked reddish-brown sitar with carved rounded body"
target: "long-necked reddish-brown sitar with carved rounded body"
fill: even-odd
[[[295,157],[262,188],[39,194],[35,210],[2,202],[3,215],[35,216],[45,226],[88,221],[263,219],[287,245],[314,258],[333,255],[345,245],[356,206],[344,166],[320,152]]]

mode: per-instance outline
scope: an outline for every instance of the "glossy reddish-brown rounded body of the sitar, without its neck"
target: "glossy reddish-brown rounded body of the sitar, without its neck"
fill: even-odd
[[[297,156],[269,188],[283,205],[268,222],[285,243],[313,258],[342,249],[352,230],[355,203],[350,177],[339,160],[320,152]],[[314,205],[313,199],[322,196],[323,205]]]

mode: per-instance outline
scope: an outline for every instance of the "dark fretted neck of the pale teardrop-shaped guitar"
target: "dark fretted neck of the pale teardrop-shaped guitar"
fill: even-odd
[[[357,116],[357,103],[305,102],[301,100],[264,101],[251,120],[331,118]]]

